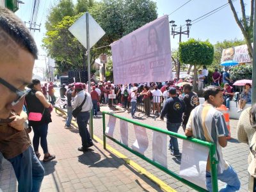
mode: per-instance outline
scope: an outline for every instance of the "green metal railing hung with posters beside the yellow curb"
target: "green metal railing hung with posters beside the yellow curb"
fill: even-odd
[[[200,186],[197,186],[196,184],[193,184],[192,182],[189,182],[189,180],[183,179],[177,173],[174,173],[171,170],[168,170],[168,168],[165,168],[161,164],[158,164],[155,161],[152,161],[148,157],[145,157],[145,156],[141,155],[139,152],[136,152],[132,148],[127,147],[126,145],[124,145],[120,141],[115,140],[114,138],[111,138],[110,136],[106,135],[105,134],[105,131],[106,131],[106,120],[105,120],[105,117],[106,117],[106,115],[112,115],[112,116],[115,116],[116,118],[119,118],[121,120],[129,122],[131,124],[139,125],[141,127],[145,127],[147,129],[151,129],[153,131],[162,132],[162,133],[167,134],[169,136],[173,136],[173,137],[179,138],[181,140],[190,141],[192,143],[197,143],[199,145],[203,145],[203,146],[209,148],[209,156],[210,156],[210,163],[211,163],[212,191],[213,192],[218,192],[218,178],[217,178],[217,164],[218,164],[218,161],[216,161],[216,159],[214,157],[214,155],[216,154],[216,146],[215,146],[214,143],[209,143],[207,141],[198,140],[196,138],[190,138],[190,137],[188,138],[187,136],[184,136],[182,134],[178,134],[176,132],[166,131],[166,130],[163,130],[163,129],[159,129],[157,127],[153,127],[151,125],[141,124],[140,122],[135,122],[133,120],[130,120],[130,119],[122,117],[122,116],[115,115],[113,113],[108,113],[108,112],[105,112],[105,111],[102,112],[102,120],[103,120],[103,145],[104,145],[104,149],[106,149],[106,138],[109,138],[109,140],[112,140],[115,143],[117,143],[118,145],[124,147],[129,152],[131,152],[132,154],[134,154],[134,155],[136,155],[138,157],[141,157],[141,159],[147,161],[148,163],[152,164],[153,166],[156,166],[157,168],[159,168],[163,172],[167,173],[168,175],[174,177],[177,180],[180,180],[184,184],[190,186],[191,188],[193,188],[193,189],[195,189],[197,191],[207,191],[207,190],[205,190],[204,188],[201,188]]]

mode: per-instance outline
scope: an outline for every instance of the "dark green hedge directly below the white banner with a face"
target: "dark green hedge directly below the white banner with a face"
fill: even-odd
[[[233,81],[241,79],[252,79],[252,66],[238,65],[236,67],[232,67],[230,71],[230,78]]]

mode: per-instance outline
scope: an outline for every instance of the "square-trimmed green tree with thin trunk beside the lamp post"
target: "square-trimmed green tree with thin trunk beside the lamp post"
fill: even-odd
[[[193,91],[196,92],[198,87],[196,86],[197,81],[197,70],[200,65],[211,65],[214,56],[214,47],[208,42],[202,42],[193,38],[189,39],[188,42],[180,42],[179,44],[179,59],[182,63],[189,63],[194,65],[194,80],[193,80]]]

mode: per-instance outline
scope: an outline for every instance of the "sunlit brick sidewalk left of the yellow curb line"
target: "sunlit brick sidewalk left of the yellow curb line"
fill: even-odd
[[[133,170],[123,159],[104,150],[96,141],[90,151],[79,152],[81,138],[78,129],[64,129],[64,124],[65,120],[52,112],[47,138],[49,152],[55,154],[56,159],[42,162],[45,177],[41,191],[161,191],[151,180]],[[29,136],[32,140],[33,132]],[[40,153],[43,154],[42,148]],[[6,160],[0,170],[0,191],[17,191],[15,173]]]

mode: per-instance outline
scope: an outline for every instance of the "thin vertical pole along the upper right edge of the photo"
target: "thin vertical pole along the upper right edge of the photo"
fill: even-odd
[[[252,60],[252,106],[256,103],[256,1],[254,1],[253,60]]]

